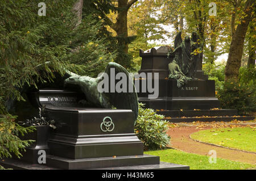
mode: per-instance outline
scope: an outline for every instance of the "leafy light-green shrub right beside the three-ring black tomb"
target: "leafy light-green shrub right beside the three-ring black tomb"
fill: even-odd
[[[139,114],[135,124],[135,133],[144,143],[145,149],[164,149],[170,143],[167,135],[168,121],[164,121],[163,115],[158,115],[149,108],[143,108],[139,103]]]

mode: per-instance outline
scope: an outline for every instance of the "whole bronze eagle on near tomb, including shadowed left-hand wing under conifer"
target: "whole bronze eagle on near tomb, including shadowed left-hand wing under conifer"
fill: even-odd
[[[48,66],[51,66],[51,62],[46,62]],[[40,74],[43,75],[44,72],[44,64],[38,65],[36,67]],[[98,84],[104,79],[103,76],[107,74],[109,77],[109,81],[111,77],[111,69],[114,69],[114,77],[118,73],[122,73],[126,75],[127,84],[131,85],[133,91],[123,91],[123,92],[110,92],[110,91],[99,91]],[[81,76],[75,73],[72,73],[69,70],[65,70],[64,74],[57,73],[53,71],[55,74],[55,78],[52,82],[38,82],[38,88],[42,87],[52,87],[52,88],[64,88],[64,89],[75,89],[77,91],[82,91],[85,96],[85,99],[82,100],[81,104],[83,107],[98,107],[98,108],[117,108],[117,109],[125,109],[132,110],[134,112],[135,120],[138,117],[138,96],[137,91],[135,89],[135,85],[133,83],[133,78],[129,72],[123,68],[121,65],[109,62],[108,66],[105,69],[105,72],[98,76],[97,78],[92,78],[89,76]],[[116,81],[116,80],[115,80]],[[38,89],[36,88],[36,89]],[[111,88],[111,87],[109,87]],[[112,87],[113,88],[113,87]],[[20,89],[20,94],[26,93],[31,89],[35,89],[35,87],[30,87],[28,85],[24,85],[22,89]],[[130,89],[130,88],[129,88]],[[8,111],[15,111],[16,108],[16,100],[9,99],[6,102],[6,107]],[[134,124],[135,124],[134,120]]]

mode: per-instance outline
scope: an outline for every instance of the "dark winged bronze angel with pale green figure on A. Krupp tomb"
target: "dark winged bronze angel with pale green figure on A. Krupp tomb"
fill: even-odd
[[[194,79],[197,62],[201,53],[201,44],[196,32],[192,32],[191,38],[181,38],[181,32],[177,33],[174,40],[174,50],[168,52],[168,57],[173,57],[169,67],[169,78],[177,80],[177,87],[181,87],[187,81]]]

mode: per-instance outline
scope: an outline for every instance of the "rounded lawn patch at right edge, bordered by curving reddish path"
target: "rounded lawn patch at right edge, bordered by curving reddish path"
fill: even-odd
[[[256,152],[256,131],[243,128],[207,129],[191,134],[191,138],[229,148]]]

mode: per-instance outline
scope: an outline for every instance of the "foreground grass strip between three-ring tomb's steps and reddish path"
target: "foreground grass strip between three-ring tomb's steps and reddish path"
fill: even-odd
[[[156,151],[145,151],[144,154],[160,156],[160,161],[188,165],[192,170],[241,170],[256,169],[255,165],[229,161],[228,159],[217,158],[216,163],[209,163],[209,156],[183,151],[166,149]]]

